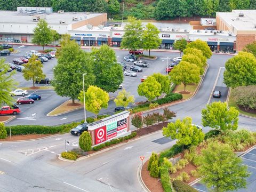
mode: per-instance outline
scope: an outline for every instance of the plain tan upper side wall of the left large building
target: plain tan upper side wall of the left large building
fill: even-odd
[[[97,17],[93,17],[91,19],[86,19],[83,21],[76,22],[72,24],[71,29],[77,29],[79,27],[83,27],[85,25],[92,25],[92,26],[98,26],[103,25],[104,22],[107,21],[107,13],[102,13],[101,15]]]

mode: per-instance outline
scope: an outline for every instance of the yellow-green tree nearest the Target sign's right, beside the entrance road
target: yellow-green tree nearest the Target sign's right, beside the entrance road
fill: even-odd
[[[182,148],[190,145],[196,146],[204,140],[204,133],[201,129],[191,125],[191,123],[191,117],[186,117],[182,121],[178,119],[174,123],[169,123],[167,127],[163,127],[163,135],[172,139],[178,139],[176,143],[178,146],[182,146]]]

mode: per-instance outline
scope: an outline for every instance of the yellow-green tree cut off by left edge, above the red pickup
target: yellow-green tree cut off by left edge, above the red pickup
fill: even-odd
[[[7,70],[10,68],[9,65],[7,65],[5,62],[5,59],[0,59],[0,105],[11,105],[11,103],[14,101],[14,99],[11,97],[10,92],[15,88],[15,85],[18,83],[14,81],[13,75],[15,74],[15,71],[12,71],[11,73],[7,73]]]

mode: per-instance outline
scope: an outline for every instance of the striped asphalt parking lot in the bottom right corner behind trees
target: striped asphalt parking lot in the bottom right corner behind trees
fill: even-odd
[[[243,165],[247,166],[247,172],[250,176],[246,179],[247,189],[239,189],[238,192],[255,191],[256,188],[256,147],[254,146],[251,150],[241,156]],[[195,183],[192,187],[198,191],[207,192],[207,188],[202,183]]]

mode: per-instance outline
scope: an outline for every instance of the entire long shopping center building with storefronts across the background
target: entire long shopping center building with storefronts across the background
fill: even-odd
[[[250,14],[252,16],[249,17]],[[217,13],[217,18],[213,22],[201,19],[202,27],[199,29],[193,29],[193,26],[189,25],[188,28],[184,28],[179,23],[170,26],[155,23],[160,30],[159,38],[162,39],[159,49],[173,49],[175,41],[185,38],[188,42],[202,39],[212,51],[240,51],[247,43],[255,40],[255,24],[254,28],[252,26],[252,23],[255,23],[255,16],[255,10]],[[17,11],[0,11],[0,42],[31,42],[33,30],[39,19],[45,19],[59,34],[70,34],[71,39],[79,45],[108,44],[119,47],[124,35],[125,23],[118,27],[107,26],[107,13],[52,12],[51,7],[17,7]],[[204,25],[214,27],[205,30],[205,27],[209,26]],[[214,29],[216,27],[217,30]]]

